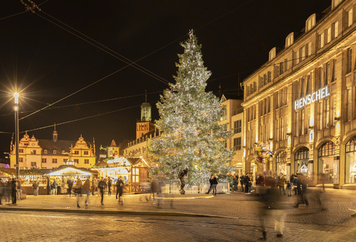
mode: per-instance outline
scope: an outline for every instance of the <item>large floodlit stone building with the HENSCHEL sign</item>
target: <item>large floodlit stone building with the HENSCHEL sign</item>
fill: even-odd
[[[323,174],[334,188],[356,186],[355,16],[355,0],[333,0],[244,80],[246,171],[263,141],[276,154],[268,172],[302,172],[310,185]]]

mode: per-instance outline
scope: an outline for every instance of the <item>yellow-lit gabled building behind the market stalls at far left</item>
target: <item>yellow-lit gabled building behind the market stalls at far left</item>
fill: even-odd
[[[95,164],[95,147],[85,142],[80,135],[78,141],[58,140],[58,132],[53,131],[52,140],[40,140],[23,135],[19,141],[20,169],[36,167],[52,169],[62,164],[91,168]],[[10,167],[16,168],[16,147],[13,144],[10,152]]]

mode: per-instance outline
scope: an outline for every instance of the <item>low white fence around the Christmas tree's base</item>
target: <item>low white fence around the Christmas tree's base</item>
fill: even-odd
[[[209,191],[210,184],[200,184],[199,186],[184,186],[184,191],[186,194],[204,194]],[[166,184],[163,189],[163,193],[169,194],[179,194],[180,185],[177,184]],[[216,186],[216,193],[225,194],[230,191],[229,183],[219,183]],[[211,191],[212,192],[212,191]]]

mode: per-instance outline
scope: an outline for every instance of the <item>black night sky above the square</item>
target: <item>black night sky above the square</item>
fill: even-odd
[[[117,144],[135,139],[145,90],[152,117],[159,118],[155,103],[167,82],[174,83],[177,53],[184,51],[179,43],[189,29],[196,30],[212,73],[206,91],[219,95],[221,84],[226,97],[242,99],[239,80],[268,61],[271,48],[283,47],[289,33],[301,31],[311,14],[331,5],[331,0],[34,2],[42,9],[36,14],[23,13],[19,0],[1,0],[0,158],[9,152],[14,132],[15,90],[20,118],[64,98],[20,120],[20,138],[40,128],[28,135],[50,140],[53,127],[42,127],[56,122],[59,140],[95,137],[98,152],[112,139]],[[140,60],[136,67],[145,73],[127,66],[125,58]],[[84,117],[90,118],[70,122]]]

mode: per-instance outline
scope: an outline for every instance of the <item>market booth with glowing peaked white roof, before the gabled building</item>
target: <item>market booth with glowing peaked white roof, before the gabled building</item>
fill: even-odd
[[[61,185],[63,182],[67,183],[68,180],[73,181],[74,188],[78,179],[84,183],[86,179],[98,177],[98,172],[86,168],[74,167],[72,165],[62,165],[56,170],[51,170],[51,172],[44,174],[44,176],[47,177],[48,187],[51,182],[57,182],[57,194],[61,194]],[[48,194],[51,194],[49,189]]]

